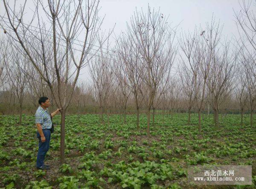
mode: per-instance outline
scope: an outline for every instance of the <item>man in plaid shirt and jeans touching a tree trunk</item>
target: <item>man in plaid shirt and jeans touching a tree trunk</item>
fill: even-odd
[[[39,139],[36,167],[37,169],[47,170],[50,169],[50,167],[44,164],[44,157],[50,146],[50,129],[52,128],[51,116],[55,116],[61,108],[49,114],[48,107],[51,105],[49,99],[43,96],[39,99],[38,103],[40,106],[35,113],[35,124],[38,129],[37,138]]]

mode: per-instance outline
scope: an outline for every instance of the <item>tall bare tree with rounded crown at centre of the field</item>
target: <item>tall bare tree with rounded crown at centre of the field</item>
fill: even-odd
[[[169,29],[167,17],[163,17],[160,10],[151,10],[149,6],[146,13],[135,11],[128,24],[128,34],[132,36],[144,66],[141,77],[146,90],[141,90],[141,93],[144,93],[147,107],[147,136],[150,135],[150,110],[157,87],[163,76],[170,71],[176,55],[173,47],[175,32]]]

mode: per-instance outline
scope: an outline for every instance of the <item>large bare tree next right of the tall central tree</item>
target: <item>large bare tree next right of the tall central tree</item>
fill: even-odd
[[[206,29],[201,28],[199,33],[195,29],[194,34],[183,35],[180,39],[180,48],[183,51],[190,69],[195,78],[195,104],[198,108],[198,131],[201,133],[201,110],[207,99],[207,79],[214,59],[214,52],[220,41],[222,27],[215,23],[206,24]],[[181,56],[182,57],[182,56]]]

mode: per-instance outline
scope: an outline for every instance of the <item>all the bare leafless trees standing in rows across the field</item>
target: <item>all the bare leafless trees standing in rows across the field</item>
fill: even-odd
[[[37,0],[28,23],[23,19],[26,0],[20,9],[16,0],[13,5],[6,0],[3,4],[6,12],[0,17],[0,26],[7,34],[0,41],[3,102],[18,102],[20,122],[24,96],[35,106],[39,96],[49,96],[61,108],[61,163],[67,109],[81,101],[85,104],[84,99],[98,105],[101,121],[103,112],[109,114],[114,104],[124,115],[128,104],[133,104],[138,129],[140,110],[146,110],[148,137],[151,110],[154,124],[155,109],[174,110],[175,106],[186,105],[188,122],[191,110],[197,110],[199,133],[201,112],[209,106],[215,126],[219,125],[220,110],[233,107],[241,110],[241,124],[244,111],[250,110],[253,124],[256,20],[246,1],[241,2],[241,11],[235,12],[239,39],[224,38],[223,25],[214,17],[205,27],[177,35],[169,18],[148,6],[145,12],[134,12],[112,47],[109,37],[113,29],[101,30],[96,0]],[[79,86],[85,66],[92,82],[86,85],[81,81]]]

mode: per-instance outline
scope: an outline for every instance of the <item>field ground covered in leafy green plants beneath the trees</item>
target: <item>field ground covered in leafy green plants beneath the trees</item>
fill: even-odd
[[[146,116],[120,115],[66,116],[65,164],[60,166],[60,116],[55,116],[45,164],[51,169],[37,170],[38,150],[34,116],[0,116],[0,188],[26,189],[254,189],[256,188],[256,124],[249,116],[240,126],[240,115],[220,118],[214,127],[213,116],[204,115],[198,135],[197,115],[176,113],[156,115],[151,136],[146,136]],[[254,119],[256,123],[256,119]],[[187,166],[199,164],[252,165],[253,185],[193,186],[187,182]]]

